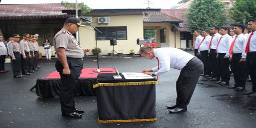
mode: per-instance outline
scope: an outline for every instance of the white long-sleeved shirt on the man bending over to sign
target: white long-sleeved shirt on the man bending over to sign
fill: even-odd
[[[192,58],[195,57],[181,49],[172,47],[154,49],[154,56],[159,60],[159,67],[156,66],[151,70],[153,70],[153,72],[155,72],[154,74],[157,76],[166,73],[170,68],[181,70]]]

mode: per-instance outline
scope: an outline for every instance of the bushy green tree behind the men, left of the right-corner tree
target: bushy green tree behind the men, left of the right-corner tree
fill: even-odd
[[[220,0],[193,0],[186,12],[186,22],[189,29],[209,29],[211,26],[227,24],[226,7]]]

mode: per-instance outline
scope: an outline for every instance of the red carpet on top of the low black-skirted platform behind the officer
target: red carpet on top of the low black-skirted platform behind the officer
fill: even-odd
[[[83,68],[82,73],[79,78],[97,78],[99,73],[93,73],[97,70],[97,68]],[[100,73],[116,73],[116,70],[112,67],[110,68],[99,68],[101,71]],[[90,74],[92,73],[92,74]],[[45,79],[60,79],[61,76],[59,72],[56,70],[52,73],[50,73],[48,76],[45,77]]]

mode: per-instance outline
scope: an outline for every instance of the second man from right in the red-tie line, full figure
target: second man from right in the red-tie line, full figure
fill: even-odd
[[[243,24],[234,25],[233,30],[236,37],[230,46],[230,67],[234,73],[235,84],[228,86],[228,88],[234,88],[235,90],[244,90],[247,77],[245,62],[240,62],[244,41],[246,40],[243,34],[244,28],[245,26]]]

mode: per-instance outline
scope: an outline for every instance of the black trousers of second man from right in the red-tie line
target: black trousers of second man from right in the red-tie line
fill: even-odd
[[[232,60],[230,61],[230,67],[231,71],[234,73],[236,87],[245,87],[247,77],[245,62],[239,62],[241,59],[241,55],[241,53],[233,53]]]

